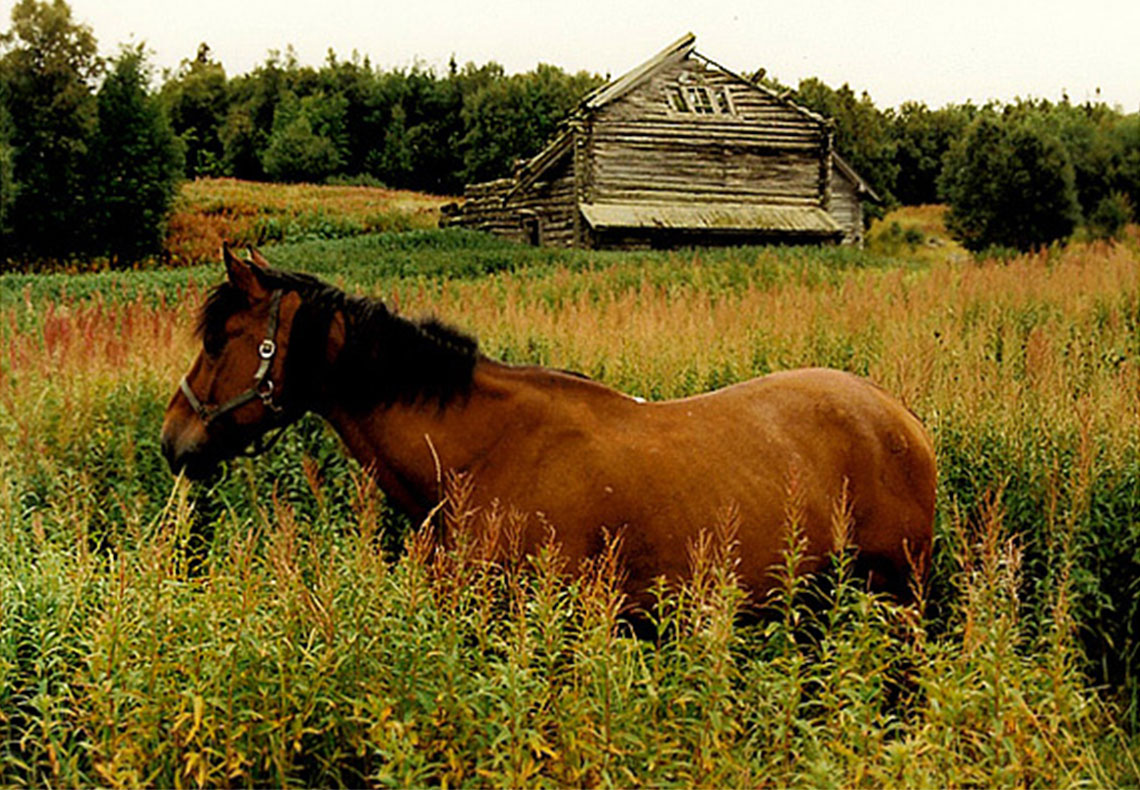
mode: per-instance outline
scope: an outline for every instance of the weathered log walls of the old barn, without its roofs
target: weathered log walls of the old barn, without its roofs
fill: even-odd
[[[730,112],[683,112],[671,97],[689,85],[724,97]],[[505,203],[514,179],[471,185],[440,223],[544,246],[642,247],[661,239],[643,230],[597,233],[578,205],[763,203],[821,206],[845,229],[845,243],[862,243],[862,205],[855,185],[831,166],[829,127],[700,57],[663,65],[577,116],[571,129],[565,155],[542,180]]]

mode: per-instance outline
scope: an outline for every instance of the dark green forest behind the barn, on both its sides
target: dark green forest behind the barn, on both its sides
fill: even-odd
[[[967,247],[1113,235],[1140,206],[1140,116],[1024,100],[880,109],[811,78],[752,79],[834,121],[836,146],[897,204],[946,202]],[[206,44],[161,75],[141,46],[98,56],[65,0],[19,0],[0,35],[0,259],[162,250],[184,178],[340,181],[458,194],[534,155],[603,78],[496,63],[442,73],[270,52],[230,76]]]

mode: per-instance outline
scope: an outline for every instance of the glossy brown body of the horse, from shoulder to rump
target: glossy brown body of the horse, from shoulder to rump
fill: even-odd
[[[730,507],[739,513],[739,572],[756,597],[772,586],[789,521],[816,557],[807,570],[825,562],[845,498],[860,562],[877,586],[905,595],[909,556],[927,557],[930,441],[866,380],[809,368],[643,404],[592,382],[523,375],[546,393],[543,418],[504,442],[523,464],[492,488],[542,512],[572,561],[596,551],[603,527],[625,528],[630,592],[657,576],[683,577],[686,543]]]

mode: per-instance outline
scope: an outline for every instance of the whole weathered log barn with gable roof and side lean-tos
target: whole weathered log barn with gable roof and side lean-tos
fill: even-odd
[[[588,93],[508,178],[467,186],[440,225],[564,247],[858,243],[864,194],[830,121],[689,34]]]

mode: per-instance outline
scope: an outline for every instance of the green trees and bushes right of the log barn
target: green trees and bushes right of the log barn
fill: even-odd
[[[872,209],[946,203],[968,250],[1026,251],[1078,228],[1112,237],[1140,219],[1138,113],[1067,97],[880,111],[846,84],[789,90],[758,76],[834,120],[837,148],[883,197]]]

